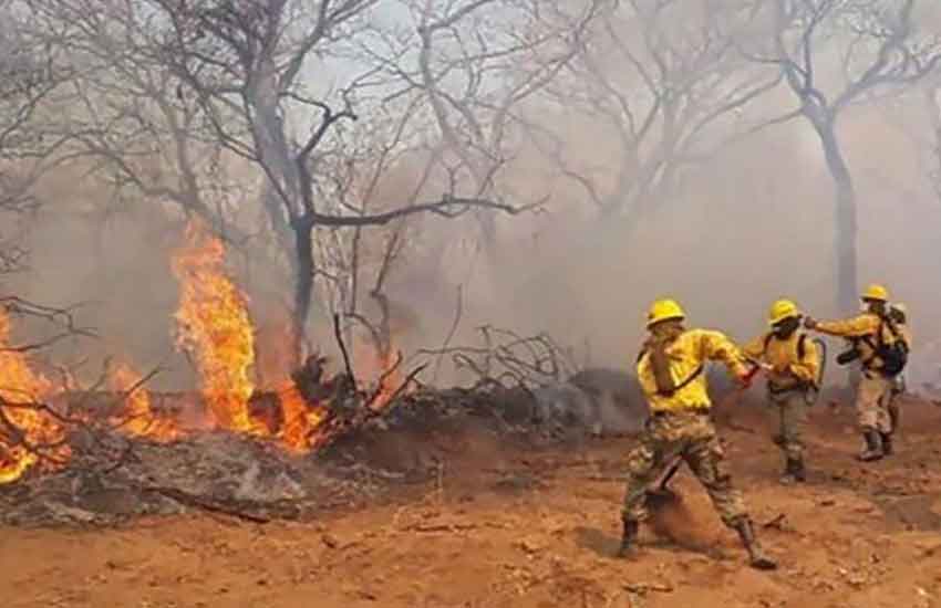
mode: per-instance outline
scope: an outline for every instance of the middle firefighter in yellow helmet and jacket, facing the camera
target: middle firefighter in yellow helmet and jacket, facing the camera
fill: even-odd
[[[778,300],[768,313],[771,331],[745,346],[747,357],[767,370],[768,401],[772,406],[776,443],[784,452],[782,483],[803,482],[804,431],[810,391],[817,386],[820,356],[807,334],[800,332],[802,314],[789,300]]]

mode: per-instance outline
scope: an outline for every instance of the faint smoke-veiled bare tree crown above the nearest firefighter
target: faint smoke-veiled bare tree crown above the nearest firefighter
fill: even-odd
[[[532,134],[602,221],[623,217],[619,226],[635,227],[683,166],[744,128],[746,106],[777,85],[779,75],[749,66],[735,48],[757,12],[745,1],[628,0],[582,36],[547,94],[558,123],[610,127],[614,161],[570,154],[566,137],[545,125]]]

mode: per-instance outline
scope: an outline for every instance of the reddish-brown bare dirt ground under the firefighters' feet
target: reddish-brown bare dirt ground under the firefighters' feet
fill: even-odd
[[[682,506],[612,557],[627,439],[523,451],[446,444],[434,483],[313,523],[207,516],[112,530],[0,530],[8,608],[941,606],[941,408],[907,403],[898,455],[864,465],[847,412],[815,408],[807,484],[748,410],[723,429],[775,573],[745,564],[687,472]]]

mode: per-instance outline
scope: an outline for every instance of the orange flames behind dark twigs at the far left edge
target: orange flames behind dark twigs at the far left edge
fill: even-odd
[[[18,480],[35,464],[54,465],[70,454],[60,445],[65,431],[33,403],[52,392],[52,384],[34,373],[22,353],[10,348],[10,319],[0,308],[0,484]],[[32,449],[31,449],[32,448]],[[40,461],[37,449],[49,459]]]

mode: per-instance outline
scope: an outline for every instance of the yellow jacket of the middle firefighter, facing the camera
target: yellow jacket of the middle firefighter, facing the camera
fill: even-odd
[[[798,344],[804,338],[804,357],[800,357]],[[767,347],[765,347],[767,345]],[[816,384],[820,373],[820,354],[810,337],[794,332],[790,337],[779,339],[774,333],[765,333],[744,348],[746,356],[767,364],[768,386],[773,390],[785,390],[797,385]]]

